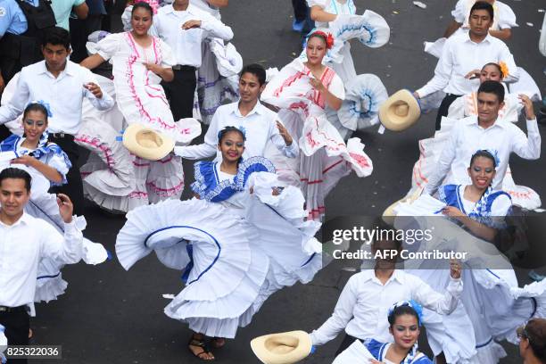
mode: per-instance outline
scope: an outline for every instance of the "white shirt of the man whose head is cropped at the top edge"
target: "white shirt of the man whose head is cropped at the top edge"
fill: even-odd
[[[182,25],[186,21],[201,21],[201,27],[184,30]],[[201,44],[205,38],[231,40],[233,37],[231,28],[193,4],[182,12],[174,10],[172,5],[163,6],[153,17],[151,33],[170,45],[177,64],[195,68],[201,67]]]

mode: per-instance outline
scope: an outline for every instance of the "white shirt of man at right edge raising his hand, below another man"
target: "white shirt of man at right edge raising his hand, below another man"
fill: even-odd
[[[497,173],[492,180],[492,188],[499,189],[506,174],[510,153],[521,158],[535,160],[541,156],[541,134],[536,119],[527,120],[527,135],[506,120],[496,120],[489,128],[478,125],[477,116],[469,116],[455,123],[450,138],[443,147],[434,173],[425,188],[426,194],[434,194],[444,181],[446,184],[469,185],[470,158],[478,150],[486,149],[497,156]],[[450,173],[451,172],[451,173]]]

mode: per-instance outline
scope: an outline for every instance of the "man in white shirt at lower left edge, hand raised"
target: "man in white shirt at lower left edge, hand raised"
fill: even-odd
[[[83,236],[66,194],[57,195],[64,236],[45,220],[24,212],[30,179],[29,173],[17,168],[0,172],[0,324],[10,345],[29,344],[28,307],[34,302],[39,261],[48,257],[73,264],[83,254]]]

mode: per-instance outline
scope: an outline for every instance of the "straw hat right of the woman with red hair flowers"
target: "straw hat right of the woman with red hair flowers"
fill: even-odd
[[[409,128],[421,116],[417,99],[408,90],[400,90],[389,97],[379,108],[379,120],[389,130]]]

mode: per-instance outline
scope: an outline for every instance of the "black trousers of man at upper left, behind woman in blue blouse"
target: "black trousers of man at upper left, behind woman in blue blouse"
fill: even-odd
[[[74,213],[76,215],[83,215],[84,210],[84,195],[83,195],[83,183],[81,181],[81,175],[79,174],[79,151],[78,145],[74,142],[74,136],[65,135],[64,137],[49,136],[49,141],[59,145],[64,153],[66,153],[72,163],[66,179],[68,183],[62,186],[54,186],[51,188],[54,194],[68,194],[70,200],[74,204]]]

